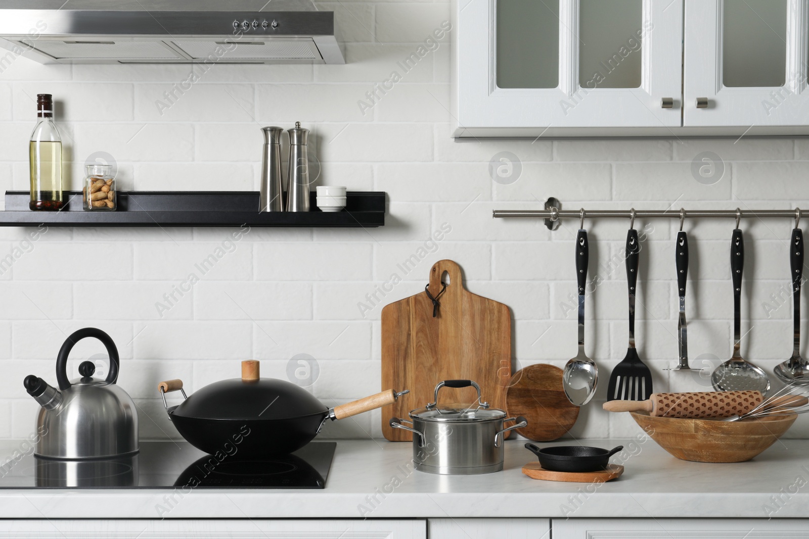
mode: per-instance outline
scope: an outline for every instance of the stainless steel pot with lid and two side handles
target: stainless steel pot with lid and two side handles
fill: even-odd
[[[442,387],[474,387],[477,403],[473,406],[438,406]],[[481,401],[481,386],[471,380],[445,380],[435,386],[433,402],[409,412],[411,421],[392,418],[393,428],[413,432],[413,465],[429,474],[489,474],[503,469],[503,433],[527,426],[523,417],[506,418],[506,412],[489,409]],[[507,421],[516,421],[503,427]],[[410,423],[412,427],[404,425]]]

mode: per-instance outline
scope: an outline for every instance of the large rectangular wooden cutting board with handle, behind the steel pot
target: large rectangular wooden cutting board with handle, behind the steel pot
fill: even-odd
[[[424,292],[385,305],[382,310],[382,386],[410,390],[382,409],[382,432],[388,440],[409,441],[413,435],[390,427],[392,417],[408,419],[408,412],[434,401],[435,385],[443,380],[467,379],[481,386],[481,398],[492,408],[506,410],[506,387],[511,376],[511,317],[508,307],[464,289],[460,266],[439,260],[430,268],[430,293],[447,290],[438,298],[438,316]],[[438,402],[476,402],[473,387],[444,387]],[[508,435],[510,433],[506,433]]]

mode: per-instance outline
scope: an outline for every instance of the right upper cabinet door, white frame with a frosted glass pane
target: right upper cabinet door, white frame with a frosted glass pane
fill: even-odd
[[[685,0],[683,124],[809,124],[807,4]]]

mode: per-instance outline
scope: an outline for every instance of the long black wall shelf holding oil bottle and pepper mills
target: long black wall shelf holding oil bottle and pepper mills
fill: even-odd
[[[64,193],[58,212],[28,209],[28,191],[6,191],[0,226],[286,226],[374,228],[385,224],[385,192],[349,191],[345,209],[321,212],[311,192],[310,212],[259,212],[257,191],[120,191],[112,212],[87,212],[82,193]]]

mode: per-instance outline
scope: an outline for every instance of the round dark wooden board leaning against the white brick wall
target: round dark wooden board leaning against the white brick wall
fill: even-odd
[[[544,363],[529,365],[512,375],[506,411],[510,417],[522,415],[527,419],[528,426],[517,429],[520,436],[549,442],[576,423],[579,408],[567,399],[561,377],[561,368]]]

